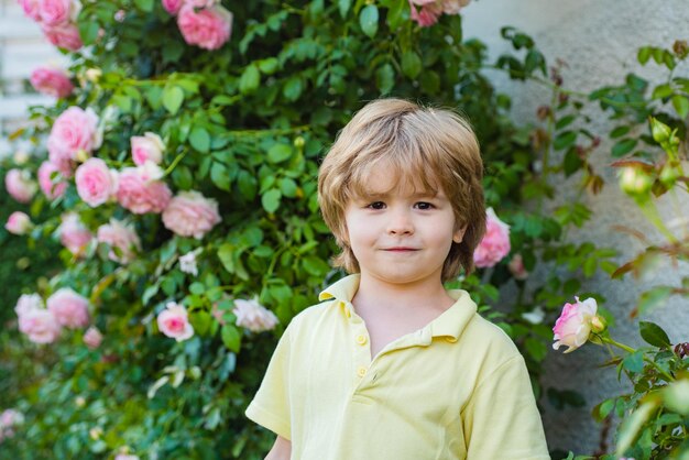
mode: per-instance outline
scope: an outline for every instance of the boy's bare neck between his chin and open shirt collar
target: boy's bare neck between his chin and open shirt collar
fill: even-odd
[[[394,308],[416,310],[419,308],[446,310],[455,300],[447,294],[440,277],[415,283],[387,283],[365,273],[361,274],[359,289],[352,299],[356,307]]]

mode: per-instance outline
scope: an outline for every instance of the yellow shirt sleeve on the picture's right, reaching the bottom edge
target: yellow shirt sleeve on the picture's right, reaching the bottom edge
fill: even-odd
[[[522,355],[479,383],[462,412],[467,460],[550,460]]]

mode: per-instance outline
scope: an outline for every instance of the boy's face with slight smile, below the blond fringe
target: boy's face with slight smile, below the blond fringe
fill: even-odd
[[[464,233],[442,190],[434,196],[397,186],[380,167],[369,182],[368,196],[350,199],[344,209],[344,239],[361,275],[392,284],[439,282],[452,241]]]

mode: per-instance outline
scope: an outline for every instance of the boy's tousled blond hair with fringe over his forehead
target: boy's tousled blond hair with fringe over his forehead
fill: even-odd
[[[397,183],[437,193],[452,205],[456,228],[466,227],[452,242],[442,266],[442,281],[473,270],[473,251],[485,231],[483,163],[469,123],[457,113],[419,107],[402,99],[380,99],[363,107],[342,131],[318,172],[318,204],[342,252],[336,266],[358,273],[359,262],[347,243],[344,209],[353,197],[365,196],[373,166],[383,165]]]

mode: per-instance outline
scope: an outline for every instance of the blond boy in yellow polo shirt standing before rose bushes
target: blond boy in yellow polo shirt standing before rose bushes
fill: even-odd
[[[473,269],[482,169],[446,110],[383,99],[344,127],[318,198],[353,274],[293,319],[247,409],[266,460],[549,459],[523,358],[442,287]]]

